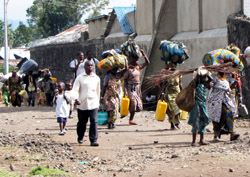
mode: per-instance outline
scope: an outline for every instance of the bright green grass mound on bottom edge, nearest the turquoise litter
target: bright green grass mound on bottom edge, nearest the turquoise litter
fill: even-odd
[[[70,176],[68,173],[62,171],[62,170],[57,170],[53,168],[48,168],[46,166],[36,166],[32,168],[30,171],[28,171],[28,174],[30,175],[43,175],[44,177],[59,177],[59,176]]]

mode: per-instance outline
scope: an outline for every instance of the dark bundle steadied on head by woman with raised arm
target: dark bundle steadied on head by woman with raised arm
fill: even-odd
[[[138,60],[142,54],[140,47],[134,41],[126,41],[121,45],[122,53],[128,57],[128,60]]]

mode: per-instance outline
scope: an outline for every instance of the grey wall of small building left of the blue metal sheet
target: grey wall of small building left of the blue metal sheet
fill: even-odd
[[[105,29],[107,26],[107,21],[108,21],[108,17],[89,21],[88,22],[89,38],[93,39],[93,38],[97,38],[97,37],[102,36],[105,32]]]

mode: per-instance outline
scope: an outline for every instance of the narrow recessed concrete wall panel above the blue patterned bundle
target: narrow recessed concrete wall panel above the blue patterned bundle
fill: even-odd
[[[177,13],[178,32],[198,30],[198,0],[178,0]]]

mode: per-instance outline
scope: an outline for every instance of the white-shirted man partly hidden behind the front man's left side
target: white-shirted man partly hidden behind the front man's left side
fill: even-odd
[[[78,59],[74,59],[69,63],[69,67],[74,73],[74,78],[76,78],[79,74],[85,72],[83,59],[84,59],[84,53],[78,52]]]

